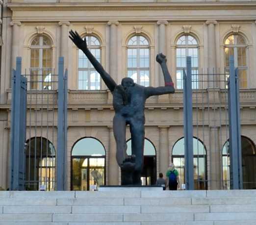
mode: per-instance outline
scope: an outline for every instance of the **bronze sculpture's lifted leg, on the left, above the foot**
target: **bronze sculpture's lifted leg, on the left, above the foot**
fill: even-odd
[[[116,160],[121,167],[125,158],[127,157],[126,144],[126,120],[119,114],[113,118],[113,132],[116,140]]]

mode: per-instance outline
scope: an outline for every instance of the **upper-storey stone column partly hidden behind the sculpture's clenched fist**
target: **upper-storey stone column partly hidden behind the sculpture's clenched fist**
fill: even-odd
[[[166,20],[159,20],[156,22],[159,25],[158,29],[158,52],[162,52],[166,55],[166,25],[168,25],[168,21]],[[157,63],[158,64],[158,63]],[[158,76],[159,76],[159,84],[160,86],[164,86],[164,77],[162,75],[162,69],[158,66]]]

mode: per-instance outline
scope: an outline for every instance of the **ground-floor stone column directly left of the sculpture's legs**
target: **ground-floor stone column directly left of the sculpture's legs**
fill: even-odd
[[[109,157],[108,157],[108,184],[118,185],[119,166],[116,161],[116,141],[114,138],[113,126],[109,128]]]

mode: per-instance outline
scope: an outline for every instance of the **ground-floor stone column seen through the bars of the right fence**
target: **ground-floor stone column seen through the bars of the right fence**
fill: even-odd
[[[221,163],[220,163],[220,139],[219,127],[210,126],[209,133],[209,174],[210,174],[210,189],[218,190],[221,188]],[[209,184],[208,184],[209,185]]]

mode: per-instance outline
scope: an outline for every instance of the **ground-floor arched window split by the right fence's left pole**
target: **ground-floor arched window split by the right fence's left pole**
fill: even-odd
[[[196,190],[207,189],[207,165],[206,150],[204,144],[197,138],[193,138],[194,150],[194,185]],[[172,161],[179,172],[180,188],[185,184],[185,159],[184,138],[179,139],[172,151]]]

